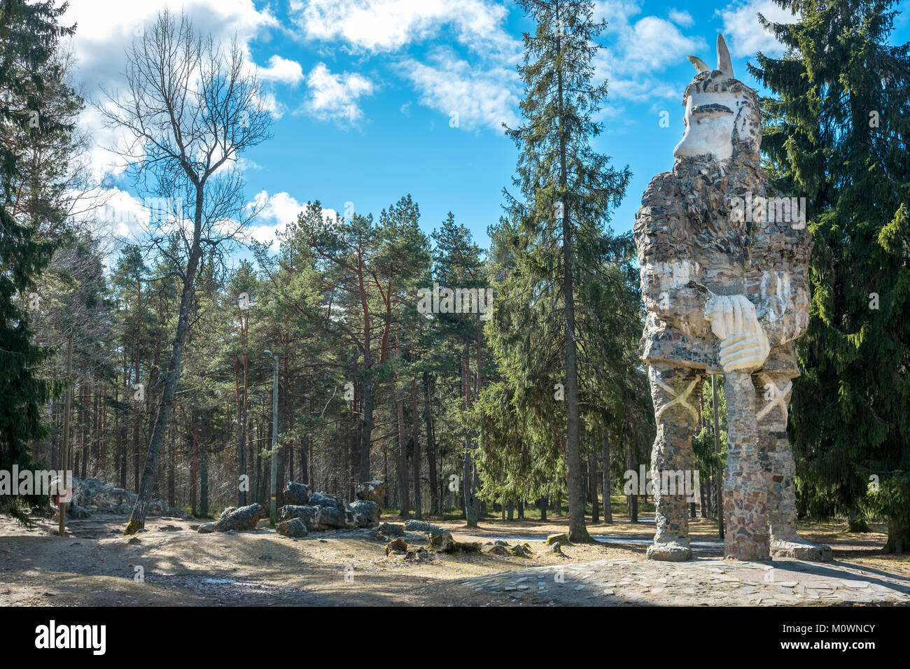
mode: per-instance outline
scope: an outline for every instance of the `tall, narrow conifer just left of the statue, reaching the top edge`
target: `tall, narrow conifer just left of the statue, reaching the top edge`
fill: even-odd
[[[600,48],[592,40],[604,27],[592,19],[593,3],[521,0],[519,4],[536,30],[524,35],[525,56],[519,66],[525,86],[521,101],[525,123],[507,131],[521,150],[514,179],[521,195],[513,197],[506,191],[510,218],[521,242],[515,248],[516,270],[501,300],[521,300],[529,312],[530,329],[512,331],[534,331],[560,342],[569,533],[572,541],[586,541],[590,537],[584,526],[575,303],[580,284],[590,280],[603,223],[611,204],[616,206],[622,199],[629,171],[613,169],[609,158],[590,146],[591,137],[602,131],[602,124],[591,117],[607,94],[605,82],[591,83],[591,59]],[[509,312],[518,315],[520,310]],[[524,353],[527,360],[538,355],[536,350]]]

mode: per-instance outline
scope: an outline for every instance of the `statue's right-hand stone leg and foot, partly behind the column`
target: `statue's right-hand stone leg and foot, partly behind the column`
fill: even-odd
[[[796,533],[796,464],[787,439],[791,381],[783,374],[759,372],[755,380],[758,447],[768,476],[768,525],[771,555],[812,562],[831,560],[831,548]]]

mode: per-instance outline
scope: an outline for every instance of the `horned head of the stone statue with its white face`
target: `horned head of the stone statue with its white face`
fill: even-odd
[[[729,160],[734,155],[759,160],[762,145],[762,117],[758,96],[733,76],[730,51],[717,35],[717,69],[701,58],[689,56],[698,70],[685,89],[685,133],[673,149],[673,157],[712,155],[714,160]]]

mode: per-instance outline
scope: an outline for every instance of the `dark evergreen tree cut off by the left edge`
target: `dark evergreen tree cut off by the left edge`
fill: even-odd
[[[56,246],[41,237],[41,226],[59,224],[65,212],[52,198],[23,208],[20,187],[30,148],[72,132],[53,117],[42,118],[45,90],[54,88],[81,104],[60,81],[59,70],[48,66],[60,38],[73,34],[73,28],[58,24],[65,10],[51,2],[0,2],[0,470],[32,467],[29,442],[47,431],[40,406],[60,390],[36,374],[53,351],[35,345],[29,309],[40,308],[35,284]],[[31,177],[52,182],[56,174]],[[0,496],[0,509],[25,521],[9,495]]]

